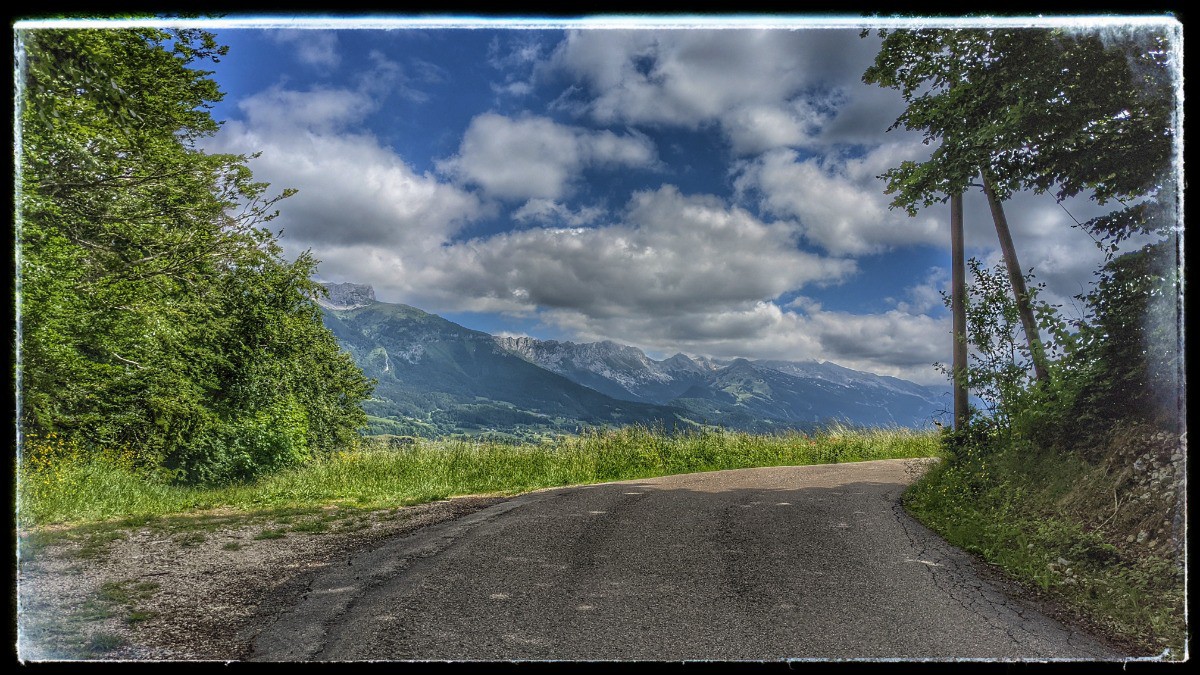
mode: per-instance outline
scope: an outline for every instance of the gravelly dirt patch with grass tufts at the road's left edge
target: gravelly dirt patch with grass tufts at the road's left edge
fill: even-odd
[[[316,571],[506,497],[364,512],[205,512],[89,536],[22,532],[22,661],[238,661]],[[36,544],[38,534],[44,543]]]

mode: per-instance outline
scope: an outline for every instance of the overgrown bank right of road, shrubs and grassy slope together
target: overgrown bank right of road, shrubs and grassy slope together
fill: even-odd
[[[905,497],[922,522],[1015,578],[1055,595],[1147,650],[1180,653],[1182,566],[1139,548],[1142,527],[1170,536],[1174,489],[1130,483],[1157,430],[1165,454],[1182,430],[1180,295],[1169,241],[1111,259],[1088,318],[1039,305],[1055,356],[1036,386],[1003,270],[972,261],[970,383],[989,402],[947,430],[948,460]],[[1177,447],[1177,446],[1176,446]],[[1135,490],[1138,494],[1128,494]],[[1069,506],[1069,508],[1068,508]],[[1126,513],[1122,513],[1126,512]],[[1146,532],[1141,532],[1142,536]],[[1123,548],[1118,545],[1129,543]],[[1169,546],[1164,546],[1170,550]]]

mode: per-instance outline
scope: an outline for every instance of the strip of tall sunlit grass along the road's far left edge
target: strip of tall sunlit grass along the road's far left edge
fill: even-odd
[[[370,441],[370,440],[368,440]],[[590,431],[539,444],[422,441],[401,449],[365,443],[256,483],[220,488],[170,485],[127,466],[74,456],[53,466],[23,462],[23,526],[239,509],[350,503],[390,507],[455,495],[511,495],[539,488],[672,473],[931,456],[932,432],[832,426],[815,435],[702,430],[666,435],[643,426]]]

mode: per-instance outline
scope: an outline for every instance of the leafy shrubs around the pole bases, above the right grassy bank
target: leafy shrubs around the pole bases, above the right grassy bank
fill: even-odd
[[[1032,377],[1003,267],[984,269],[970,259],[967,386],[985,410],[973,411],[971,428],[948,437],[950,446],[988,447],[1003,438],[1086,453],[1122,424],[1178,432],[1182,310],[1171,252],[1160,241],[1110,261],[1096,288],[1076,298],[1087,315],[1074,321],[1037,301],[1040,286],[1031,287],[1052,357],[1050,381],[1042,384]]]

